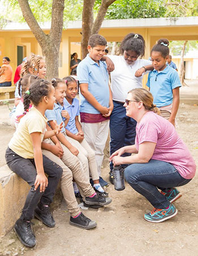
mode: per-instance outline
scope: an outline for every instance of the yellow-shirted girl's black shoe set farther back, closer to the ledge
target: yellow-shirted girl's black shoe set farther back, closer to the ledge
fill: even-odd
[[[50,228],[54,228],[55,221],[53,216],[50,212],[50,207],[46,207],[40,203],[38,203],[36,209],[35,209],[35,217],[42,221],[46,226],[49,226]]]

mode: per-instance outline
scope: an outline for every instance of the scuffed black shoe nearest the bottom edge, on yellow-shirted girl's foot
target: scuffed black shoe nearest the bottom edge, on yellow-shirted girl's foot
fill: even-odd
[[[19,219],[14,225],[14,231],[18,236],[20,242],[27,247],[34,247],[36,245],[35,233],[31,228],[31,221]]]

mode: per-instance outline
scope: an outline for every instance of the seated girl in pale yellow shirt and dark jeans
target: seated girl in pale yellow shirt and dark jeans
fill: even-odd
[[[29,110],[31,102],[33,107]],[[51,228],[55,225],[49,206],[61,178],[62,168],[41,152],[42,140],[58,134],[62,129],[62,124],[55,125],[53,131],[45,132],[48,121],[45,111],[53,109],[54,102],[54,87],[51,83],[40,79],[32,83],[23,102],[24,110],[29,112],[20,120],[6,150],[8,167],[31,186],[22,214],[14,225],[20,242],[28,247],[36,245],[35,234],[31,228],[34,215]]]

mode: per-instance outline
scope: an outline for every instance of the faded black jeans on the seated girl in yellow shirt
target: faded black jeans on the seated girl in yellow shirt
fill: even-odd
[[[35,160],[20,157],[10,148],[7,148],[5,157],[8,167],[31,186],[22,211],[24,219],[31,220],[39,202],[49,205],[53,201],[53,196],[63,170],[59,165],[49,160],[48,157],[42,156],[44,171],[48,174],[48,187],[46,187],[45,192],[40,192],[40,186],[35,190],[37,175]]]

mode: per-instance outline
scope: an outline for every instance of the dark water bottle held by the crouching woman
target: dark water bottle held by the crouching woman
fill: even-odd
[[[124,190],[124,170],[121,165],[116,165],[113,168],[113,179],[115,190]]]

